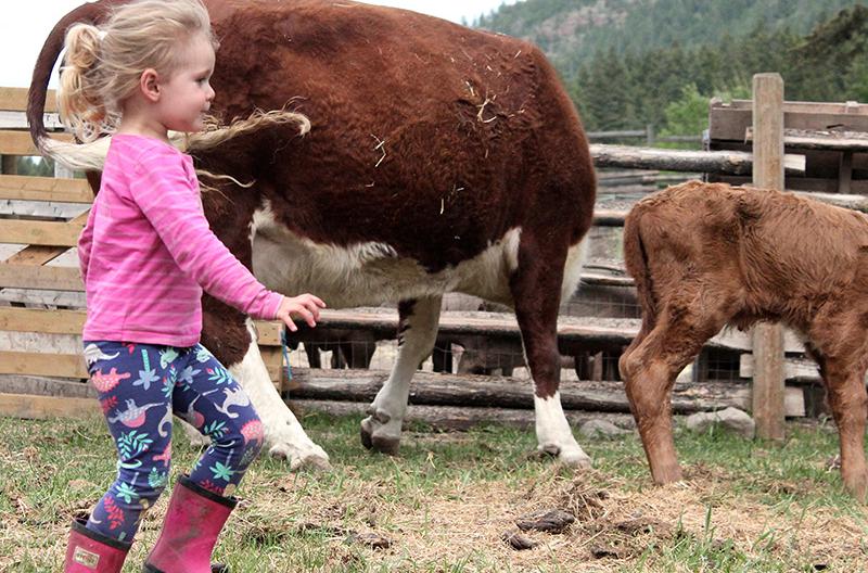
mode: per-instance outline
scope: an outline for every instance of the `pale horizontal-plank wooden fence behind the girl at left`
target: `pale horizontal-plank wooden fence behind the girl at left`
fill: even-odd
[[[99,406],[60,392],[68,391],[63,380],[88,378],[80,348],[84,284],[72,247],[93,194],[85,179],[62,169],[60,177],[17,175],[20,157],[39,155],[26,131],[26,96],[25,89],[0,88],[0,416],[75,416]],[[46,125],[60,128],[53,94],[48,100]],[[282,390],[281,326],[256,327],[269,373]],[[65,395],[28,392],[52,394],[43,377],[58,380],[58,394]]]

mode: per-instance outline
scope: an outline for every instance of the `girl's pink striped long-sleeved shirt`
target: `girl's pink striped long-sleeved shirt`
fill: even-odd
[[[157,139],[115,135],[102,186],[78,240],[86,341],[192,346],[202,290],[273,319],[268,291],[208,227],[193,161]]]

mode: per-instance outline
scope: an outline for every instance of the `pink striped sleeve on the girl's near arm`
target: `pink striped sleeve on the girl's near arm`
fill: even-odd
[[[210,295],[256,318],[273,319],[283,298],[267,290],[214,234],[202,209],[192,164],[169,148],[140,157],[131,199],[178,267]]]

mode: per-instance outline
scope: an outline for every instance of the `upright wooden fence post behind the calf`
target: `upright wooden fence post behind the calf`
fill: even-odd
[[[753,184],[783,190],[783,79],[753,76]],[[756,435],[782,441],[783,329],[761,323],[753,329],[753,416]]]

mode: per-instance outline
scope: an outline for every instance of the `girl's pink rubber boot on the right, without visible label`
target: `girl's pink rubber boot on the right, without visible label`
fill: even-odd
[[[144,563],[145,573],[217,573],[210,563],[217,536],[238,499],[208,492],[181,476],[175,484],[166,520]]]

